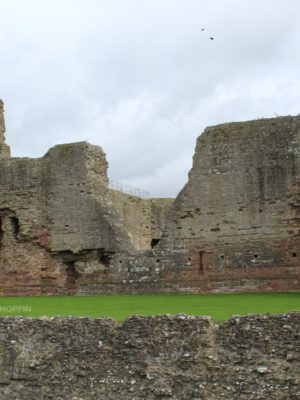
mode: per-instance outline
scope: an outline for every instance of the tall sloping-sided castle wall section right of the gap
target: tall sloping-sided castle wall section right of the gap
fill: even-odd
[[[159,245],[164,264],[200,291],[299,289],[299,144],[299,117],[207,128]]]

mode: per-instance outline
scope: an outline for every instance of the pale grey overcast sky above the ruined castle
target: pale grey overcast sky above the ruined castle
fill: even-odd
[[[0,15],[13,156],[86,140],[111,179],[169,197],[206,126],[300,113],[299,0],[0,0]]]

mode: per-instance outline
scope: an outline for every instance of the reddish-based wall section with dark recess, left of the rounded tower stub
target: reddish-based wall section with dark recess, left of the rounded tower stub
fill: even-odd
[[[41,159],[0,162],[0,295],[64,290],[59,263],[46,250],[46,197]]]

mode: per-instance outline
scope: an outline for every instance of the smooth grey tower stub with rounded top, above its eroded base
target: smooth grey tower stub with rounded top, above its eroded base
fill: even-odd
[[[124,233],[113,225],[107,161],[101,148],[87,143],[59,145],[47,153],[45,162],[51,250],[114,251]]]

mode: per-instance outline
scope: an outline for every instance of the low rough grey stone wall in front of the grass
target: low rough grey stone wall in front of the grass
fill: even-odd
[[[300,313],[1,318],[1,400],[300,398]]]

